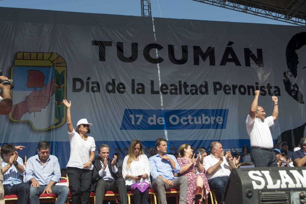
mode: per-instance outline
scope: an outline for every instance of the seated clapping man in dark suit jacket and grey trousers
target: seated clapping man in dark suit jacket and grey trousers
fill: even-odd
[[[93,162],[94,170],[92,173],[92,181],[95,184],[96,199],[95,203],[102,204],[106,191],[119,192],[120,203],[128,203],[125,180],[116,167],[117,156],[111,160],[108,158],[110,148],[106,144],[99,147],[99,158]]]

